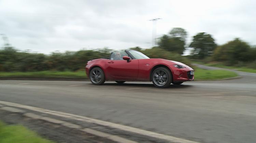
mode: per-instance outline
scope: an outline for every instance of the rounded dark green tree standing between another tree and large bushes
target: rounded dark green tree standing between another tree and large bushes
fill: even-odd
[[[189,46],[194,48],[193,55],[198,56],[199,59],[204,59],[212,55],[217,44],[210,34],[202,32],[193,37],[193,41]]]

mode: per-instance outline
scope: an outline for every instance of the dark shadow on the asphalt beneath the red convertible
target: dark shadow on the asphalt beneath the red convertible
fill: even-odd
[[[156,88],[153,84],[130,84],[130,83],[123,83],[123,84],[117,84],[117,83],[104,83],[104,85],[109,85],[109,86],[122,86],[122,87],[134,87],[134,88],[138,88],[138,87],[152,87],[152,88]],[[168,88],[189,88],[189,87],[193,87],[191,85],[173,85],[171,84]]]

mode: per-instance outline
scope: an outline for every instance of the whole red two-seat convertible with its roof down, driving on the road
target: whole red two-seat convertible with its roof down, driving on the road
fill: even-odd
[[[172,60],[149,58],[139,51],[125,50],[111,53],[108,59],[87,62],[86,73],[94,85],[105,81],[152,81],[155,87],[166,88],[194,80],[194,70]]]

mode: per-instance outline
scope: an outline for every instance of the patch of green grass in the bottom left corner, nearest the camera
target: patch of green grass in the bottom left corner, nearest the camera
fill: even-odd
[[[0,121],[0,143],[54,143],[21,125],[5,125]]]

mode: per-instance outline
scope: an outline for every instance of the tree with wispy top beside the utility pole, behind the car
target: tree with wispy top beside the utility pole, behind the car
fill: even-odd
[[[169,35],[159,38],[158,46],[162,49],[183,54],[186,44],[187,32],[182,28],[173,28]]]

